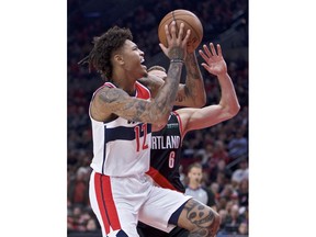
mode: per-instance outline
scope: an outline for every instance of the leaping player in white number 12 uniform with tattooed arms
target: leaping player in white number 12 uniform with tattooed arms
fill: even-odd
[[[90,203],[103,237],[138,236],[138,219],[165,232],[179,225],[194,236],[214,236],[219,217],[210,207],[182,193],[154,185],[149,169],[151,124],[163,126],[174,104],[190,31],[176,22],[165,26],[170,59],[166,82],[151,98],[137,81],[146,77],[144,53],[129,30],[114,26],[98,37],[89,54],[90,68],[109,81],[90,103],[93,159]],[[185,35],[185,36],[184,36]]]

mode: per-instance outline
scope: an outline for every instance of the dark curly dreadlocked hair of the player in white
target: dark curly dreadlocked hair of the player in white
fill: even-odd
[[[108,30],[100,37],[94,37],[92,50],[88,57],[83,58],[89,64],[89,70],[91,71],[92,68],[95,68],[103,78],[111,78],[113,72],[111,56],[113,52],[124,45],[126,40],[133,41],[131,31],[116,25]]]

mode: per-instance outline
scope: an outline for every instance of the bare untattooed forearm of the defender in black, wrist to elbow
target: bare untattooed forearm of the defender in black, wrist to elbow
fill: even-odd
[[[222,94],[219,105],[223,106],[230,116],[235,116],[238,113],[240,105],[232,78],[227,72],[218,75],[217,78]]]

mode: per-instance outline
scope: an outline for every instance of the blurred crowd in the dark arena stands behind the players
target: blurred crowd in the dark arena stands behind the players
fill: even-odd
[[[103,81],[94,71],[89,72],[87,67],[78,66],[78,61],[90,52],[93,36],[102,34],[115,24],[129,27],[134,41],[145,52],[146,61],[150,61],[151,57],[161,52],[157,35],[159,21],[171,10],[187,9],[199,15],[205,42],[225,33],[240,18],[246,25],[248,24],[247,0],[137,1],[137,5],[129,5],[128,13],[112,12],[111,20],[104,15],[105,12],[98,13],[98,9],[93,14],[84,11],[86,4],[94,1],[68,0],[67,229],[69,236],[78,232],[100,233],[99,223],[90,208],[88,194],[90,161],[93,156],[88,108],[92,93]],[[248,42],[245,41],[248,35],[244,35],[242,45],[237,46],[247,47]],[[226,48],[223,48],[224,56],[225,50]],[[202,185],[213,193],[217,212],[222,217],[217,237],[247,236],[248,61],[245,58],[230,60],[225,57],[225,59],[240,103],[240,112],[232,120],[211,128],[187,134],[182,148],[181,177],[187,184],[188,167],[193,162],[201,163]],[[207,104],[217,103],[221,97],[218,81],[204,69],[201,68],[201,71]]]

